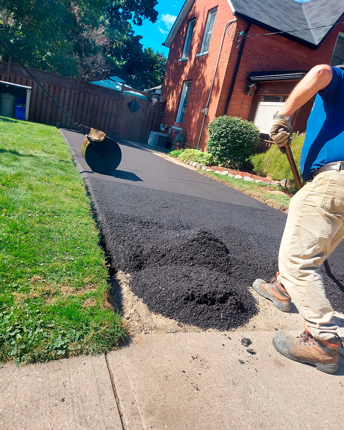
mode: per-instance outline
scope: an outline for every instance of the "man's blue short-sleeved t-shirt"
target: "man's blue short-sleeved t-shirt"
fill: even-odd
[[[301,152],[301,175],[313,179],[312,172],[328,163],[344,161],[344,69],[332,68],[332,80],[316,95],[307,121]]]

